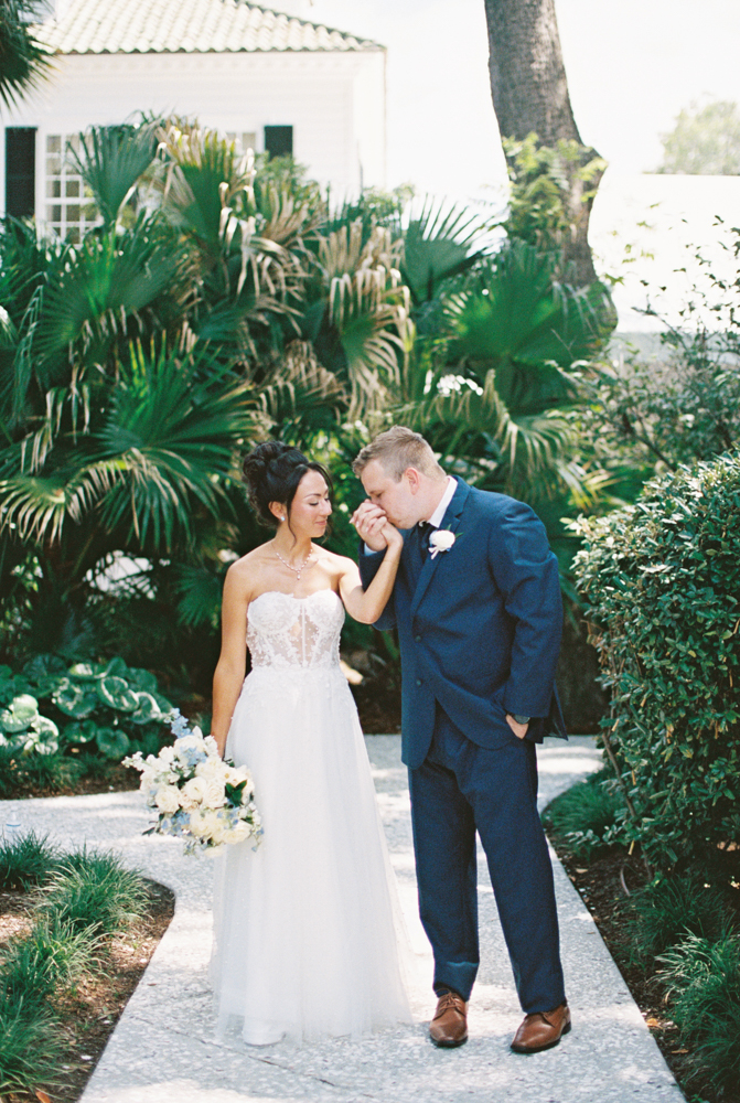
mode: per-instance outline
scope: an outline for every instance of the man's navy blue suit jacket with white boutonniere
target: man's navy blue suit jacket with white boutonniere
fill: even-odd
[[[516,739],[506,713],[530,716],[527,738],[565,737],[555,668],[562,631],[557,560],[528,505],[458,480],[441,528],[449,552],[427,556],[418,574],[408,544],[379,629],[398,628],[401,754],[419,767],[435,727],[435,702],[481,747]],[[366,587],[384,552],[361,554]]]

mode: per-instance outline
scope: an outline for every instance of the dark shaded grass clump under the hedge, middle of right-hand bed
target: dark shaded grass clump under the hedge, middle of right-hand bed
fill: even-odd
[[[728,928],[723,893],[696,872],[662,877],[632,898],[633,956],[652,959],[687,934],[717,939]]]

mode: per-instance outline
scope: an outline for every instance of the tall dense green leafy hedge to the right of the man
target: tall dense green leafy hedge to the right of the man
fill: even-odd
[[[575,570],[611,690],[602,736],[630,807],[618,834],[662,867],[737,861],[740,457],[648,483],[579,525]]]

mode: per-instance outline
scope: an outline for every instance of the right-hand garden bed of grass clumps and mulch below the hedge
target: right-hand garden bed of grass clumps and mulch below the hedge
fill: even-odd
[[[697,869],[651,877],[639,847],[609,840],[603,777],[545,810],[550,842],[686,1099],[740,1103],[740,890]]]

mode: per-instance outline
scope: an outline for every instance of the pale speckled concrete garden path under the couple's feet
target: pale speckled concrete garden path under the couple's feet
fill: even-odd
[[[427,1039],[433,1008],[431,954],[421,930],[406,771],[399,739],[367,739],[378,800],[416,961],[412,1026],[362,1041],[302,1049],[217,1045],[207,984],[211,949],[208,858],[184,858],[175,839],[144,838],[138,793],[0,802],[63,846],[114,848],[176,893],[175,915],[108,1042],[83,1103],[679,1103],[683,1095],[644,1025],[601,936],[557,858],[566,986],[573,1029],[533,1057],[508,1049],[522,1018],[493,893],[481,870],[482,964],[470,1009],[470,1040],[437,1050]],[[539,750],[543,806],[600,764],[588,737],[547,740]]]

